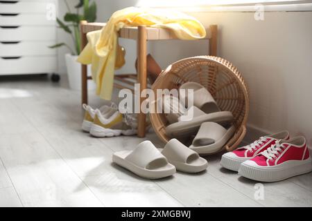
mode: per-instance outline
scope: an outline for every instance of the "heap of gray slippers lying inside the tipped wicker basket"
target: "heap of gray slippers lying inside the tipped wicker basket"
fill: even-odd
[[[181,89],[184,89],[183,93]],[[190,89],[193,95],[185,95],[184,92]],[[166,135],[179,140],[196,135],[189,148],[200,155],[222,151],[235,132],[232,113],[221,111],[209,91],[196,82],[182,84],[179,96],[180,99],[165,95],[162,99],[162,108],[169,122]]]

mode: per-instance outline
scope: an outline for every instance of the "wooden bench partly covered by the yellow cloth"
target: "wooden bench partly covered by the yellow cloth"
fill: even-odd
[[[81,48],[85,48],[87,45],[87,32],[102,29],[106,23],[87,23],[87,21],[80,22],[80,35],[81,35]],[[207,36],[205,39],[209,39],[209,55],[217,55],[217,36],[218,27],[211,25],[207,28]],[[115,79],[118,82],[114,83],[116,88],[129,88],[125,86],[130,85],[136,79],[137,83],[140,84],[140,90],[147,88],[147,73],[146,73],[146,41],[158,41],[168,39],[178,39],[174,33],[166,28],[150,28],[146,26],[138,27],[125,27],[119,31],[119,37],[124,39],[133,39],[137,41],[137,73],[118,75]],[[87,80],[92,77],[87,76],[87,66],[82,66],[82,104],[87,104]],[[120,84],[121,83],[121,84]],[[141,93],[140,91],[140,93]],[[144,98],[140,100],[141,102]],[[146,115],[144,113],[138,114],[138,137],[145,137],[146,133]]]

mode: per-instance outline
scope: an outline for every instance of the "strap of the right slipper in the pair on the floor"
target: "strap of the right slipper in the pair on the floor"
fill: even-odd
[[[198,153],[191,150],[177,139],[171,139],[164,147],[162,154],[170,161],[183,163],[187,163],[187,159],[189,159],[191,155],[197,155],[199,157]]]

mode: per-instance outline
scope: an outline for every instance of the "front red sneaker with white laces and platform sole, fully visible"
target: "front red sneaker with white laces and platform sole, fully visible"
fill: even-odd
[[[261,182],[285,180],[312,171],[306,139],[279,140],[266,151],[241,164],[239,174]]]

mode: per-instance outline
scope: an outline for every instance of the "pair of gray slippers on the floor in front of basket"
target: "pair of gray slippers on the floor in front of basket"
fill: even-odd
[[[137,145],[134,151],[119,151],[112,161],[140,177],[159,179],[176,171],[198,173],[207,169],[207,160],[176,139],[170,140],[162,150],[148,140]]]

